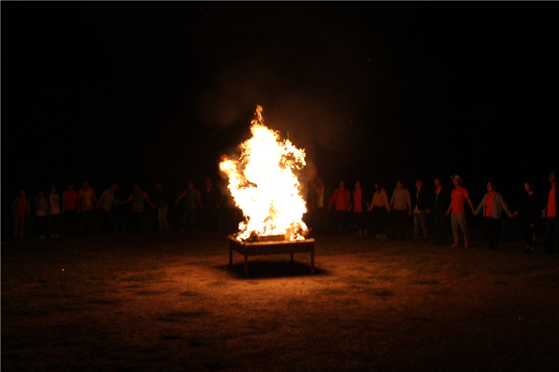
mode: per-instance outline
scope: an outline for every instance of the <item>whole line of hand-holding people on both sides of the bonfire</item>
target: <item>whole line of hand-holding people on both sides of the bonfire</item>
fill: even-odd
[[[474,207],[458,174],[451,177],[452,188],[445,186],[442,179],[434,179],[432,192],[427,191],[421,179],[415,181],[412,191],[398,180],[390,198],[379,182],[375,182],[372,193],[361,188],[360,181],[355,182],[351,192],[344,181],[340,181],[338,187],[331,191],[324,179],[317,177],[307,186],[308,211],[304,220],[311,228],[312,235],[345,235],[351,230],[357,230],[361,237],[372,235],[375,239],[405,239],[411,216],[414,240],[427,241],[431,237],[435,244],[448,244],[451,236],[451,246],[458,247],[461,236],[463,246],[468,248],[470,234],[466,208],[469,207],[472,216],[483,219],[488,251],[494,251],[498,246],[502,217],[519,216],[525,230],[525,252],[535,251],[538,227],[543,221],[546,255],[554,254],[559,257],[559,251],[555,248],[559,241],[556,177],[556,172],[549,174],[550,188],[546,198],[537,198],[533,184],[525,182],[525,199],[518,211],[509,209],[492,181],[487,183],[487,193],[477,207]],[[156,182],[154,186],[155,192],[150,198],[138,184],[133,184],[129,197],[122,200],[115,197],[118,188],[116,184],[104,190],[99,199],[88,181],[83,181],[82,187],[77,191],[73,184],[68,184],[61,196],[57,193],[56,186],[50,188],[48,195],[39,191],[34,198],[36,235],[38,239],[47,239],[48,236],[57,238],[61,230],[66,235],[74,235],[78,231],[78,223],[80,232],[84,234],[111,232],[118,230],[118,226],[121,226],[120,230],[149,230],[149,214],[145,213],[145,204],[157,212],[158,230],[162,234],[170,230],[169,208],[176,207],[180,202],[181,233],[196,230],[234,232],[242,220],[242,213],[235,208],[231,195],[219,191],[210,177],[205,178],[200,191],[192,182],[188,182],[187,187],[176,198],[171,198],[160,182]],[[541,202],[543,199],[544,202]],[[115,206],[119,204],[130,204],[126,218],[117,217],[114,213]],[[20,195],[13,200],[11,209],[14,216],[13,237],[23,239],[26,221],[31,215],[31,202],[26,191],[20,191]],[[434,235],[428,232],[427,216],[433,216]]]

